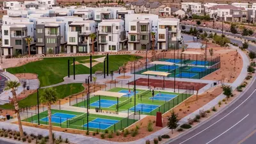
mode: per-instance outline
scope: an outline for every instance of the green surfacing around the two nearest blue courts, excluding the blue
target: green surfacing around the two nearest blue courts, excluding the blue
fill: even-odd
[[[65,122],[62,122],[62,123],[52,122],[52,125],[57,126],[57,127],[63,127],[63,128],[87,130],[87,127],[83,127],[83,125],[87,123],[87,117],[86,117],[87,114],[86,113],[79,113],[76,111],[57,110],[57,109],[51,109],[51,112],[52,112],[52,115],[54,113],[65,113],[65,114],[70,114],[70,115],[76,115],[76,117],[74,117],[74,118],[77,118],[77,121],[74,120],[73,118],[70,118],[70,119],[65,120]],[[41,120],[42,118],[45,118],[47,116],[48,116],[48,111],[44,111],[44,112],[40,113],[40,115],[39,115],[40,124],[48,125],[48,122]],[[121,131],[123,128],[128,127],[129,125],[131,125],[137,121],[137,120],[134,120],[133,116],[131,116],[131,118],[121,118],[121,117],[116,117],[116,116],[90,114],[88,117],[88,122],[90,122],[96,118],[104,118],[104,119],[120,121],[120,122],[116,123],[115,125],[108,127],[108,131],[112,131],[112,130],[113,131],[117,131],[117,130]],[[36,115],[36,113],[27,113],[27,118],[22,121],[38,124],[38,115]],[[102,124],[103,124],[103,122],[102,122]],[[89,127],[89,131],[97,131],[97,129]],[[99,129],[99,132],[105,132],[105,130]]]

